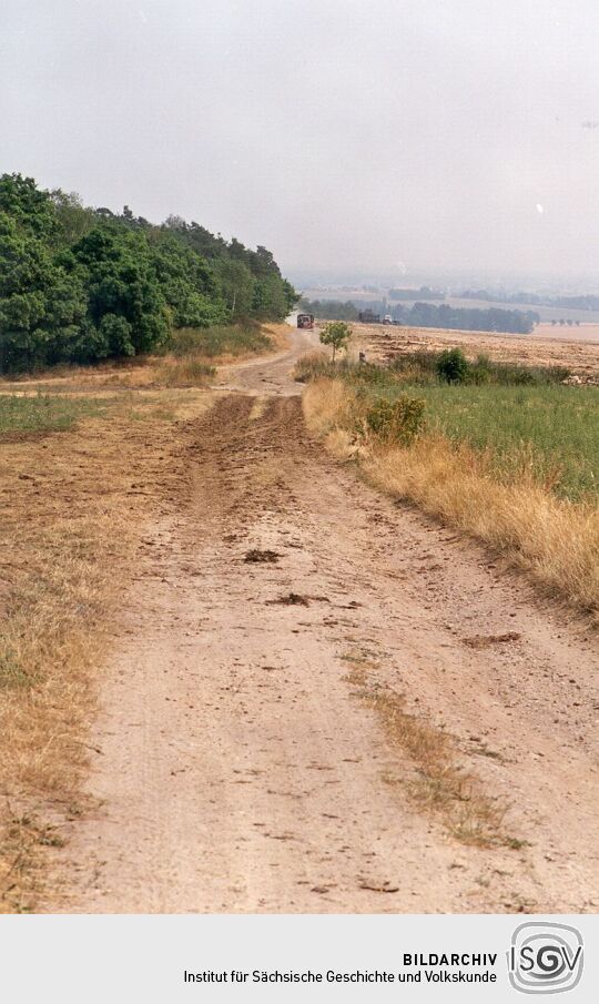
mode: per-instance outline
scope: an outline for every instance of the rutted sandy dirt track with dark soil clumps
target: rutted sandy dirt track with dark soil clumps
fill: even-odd
[[[83,912],[593,911],[590,640],[304,430],[291,353],[186,424],[103,670],[62,896]],[[403,693],[498,807],[496,846],[410,797],[365,702]],[[465,811],[468,811],[467,803]]]

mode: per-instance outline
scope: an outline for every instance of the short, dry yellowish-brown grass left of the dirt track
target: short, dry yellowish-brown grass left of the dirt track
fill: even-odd
[[[173,422],[190,393],[115,398],[60,435],[1,445],[0,912],[35,907],[81,779],[98,669],[146,521],[186,475]],[[139,420],[143,418],[143,420]]]

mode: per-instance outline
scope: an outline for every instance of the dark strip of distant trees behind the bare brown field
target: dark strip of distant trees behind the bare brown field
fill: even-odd
[[[357,321],[361,310],[369,308],[380,316],[390,314],[396,324],[409,327],[441,327],[451,331],[508,332],[511,334],[529,334],[540,320],[534,311],[505,311],[489,307],[484,311],[476,307],[450,307],[446,303],[438,306],[432,303],[415,303],[412,307],[396,304],[389,307],[382,301],[369,301],[359,304],[347,301],[337,303],[334,300],[302,300],[302,310],[309,311],[315,317],[325,321]]]

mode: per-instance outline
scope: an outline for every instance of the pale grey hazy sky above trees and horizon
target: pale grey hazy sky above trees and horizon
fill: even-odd
[[[599,272],[597,0],[0,0],[0,170],[286,272]]]

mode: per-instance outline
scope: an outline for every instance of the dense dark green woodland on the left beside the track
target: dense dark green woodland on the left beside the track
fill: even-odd
[[[0,372],[152,352],[175,328],[282,320],[296,300],[265,247],[0,176]]]

